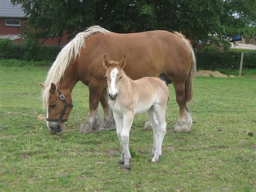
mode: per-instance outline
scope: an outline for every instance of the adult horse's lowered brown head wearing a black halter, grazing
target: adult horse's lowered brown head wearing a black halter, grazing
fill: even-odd
[[[40,83],[45,89],[45,85]],[[46,90],[44,90],[46,91]],[[73,107],[71,93],[68,90],[59,90],[54,83],[50,88],[49,104],[47,108],[46,124],[53,134],[62,132],[65,122],[68,121],[69,113]]]

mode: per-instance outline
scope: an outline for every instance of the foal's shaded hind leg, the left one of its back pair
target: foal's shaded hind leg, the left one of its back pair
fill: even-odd
[[[151,107],[149,110],[146,111],[148,119],[149,119],[149,123],[150,126],[153,129],[153,134],[154,134],[154,139],[153,139],[153,147],[152,147],[152,152],[150,157],[153,158],[153,156],[155,155],[155,149],[156,149],[156,145],[158,142],[158,132],[157,132],[157,127],[158,127],[158,120],[156,120],[156,116],[154,114],[154,110],[153,107]]]

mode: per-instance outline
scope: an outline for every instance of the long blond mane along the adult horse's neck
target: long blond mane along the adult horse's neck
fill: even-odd
[[[50,88],[51,83],[54,83],[57,88],[60,82],[60,79],[63,77],[66,68],[68,68],[71,60],[75,60],[77,55],[80,55],[80,50],[82,47],[85,47],[86,40],[93,33],[102,33],[107,36],[110,31],[105,30],[104,28],[94,25],[89,27],[84,32],[78,33],[76,37],[71,40],[58,54],[55,62],[52,64],[51,69],[47,74],[45,81],[45,87],[42,91],[43,107],[46,108],[49,105],[50,97]]]

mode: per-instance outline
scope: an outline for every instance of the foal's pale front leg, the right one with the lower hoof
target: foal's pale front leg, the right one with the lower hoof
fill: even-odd
[[[133,124],[134,115],[135,115],[135,110],[129,111],[123,115],[123,130],[120,136],[121,136],[121,142],[124,149],[124,165],[123,165],[124,171],[129,171],[131,169],[130,161],[132,159],[132,156],[130,155],[130,152],[129,152],[129,133]]]

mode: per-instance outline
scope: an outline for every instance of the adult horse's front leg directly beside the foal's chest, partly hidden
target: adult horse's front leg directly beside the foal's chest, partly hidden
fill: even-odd
[[[116,127],[113,117],[113,110],[108,105],[108,91],[104,88],[101,94],[100,102],[104,111],[104,120],[101,124],[101,130],[113,130]]]

